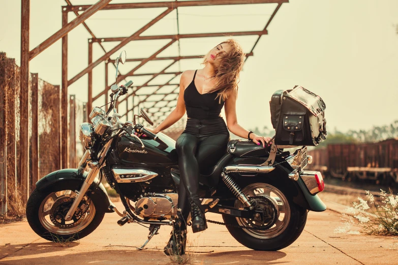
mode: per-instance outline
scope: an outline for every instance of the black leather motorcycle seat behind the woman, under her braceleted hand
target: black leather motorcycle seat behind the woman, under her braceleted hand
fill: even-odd
[[[242,141],[241,139],[233,139],[228,142],[228,153],[235,157],[253,157],[268,155],[267,145],[257,145],[253,141]]]

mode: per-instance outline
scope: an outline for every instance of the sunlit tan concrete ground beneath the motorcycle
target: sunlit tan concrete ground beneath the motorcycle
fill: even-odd
[[[118,208],[123,208],[116,203]],[[333,208],[333,207],[332,207]],[[206,214],[222,221],[220,215]],[[37,236],[27,222],[0,225],[0,264],[171,264],[163,253],[171,227],[161,227],[145,250],[148,229],[139,224],[116,224],[116,214],[106,214],[91,235],[69,246],[58,246]],[[225,226],[188,234],[192,264],[398,264],[398,238],[335,234],[341,226],[334,210],[310,212],[301,236],[280,251],[254,251],[240,245]],[[190,227],[189,227],[190,228]],[[190,228],[191,229],[191,228]]]

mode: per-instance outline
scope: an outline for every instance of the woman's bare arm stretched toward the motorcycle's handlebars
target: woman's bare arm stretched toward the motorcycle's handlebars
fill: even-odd
[[[177,98],[177,105],[175,109],[164,119],[158,126],[154,129],[150,129],[152,132],[157,134],[159,131],[167,129],[174,123],[176,123],[182,116],[185,114],[185,101],[184,101],[184,90],[185,90],[185,81],[187,80],[188,71],[184,71],[181,74],[181,78],[179,80],[179,93]]]

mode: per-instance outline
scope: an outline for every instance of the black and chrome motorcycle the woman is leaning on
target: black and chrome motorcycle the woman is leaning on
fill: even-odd
[[[80,125],[80,140],[86,151],[78,168],[48,174],[36,183],[29,197],[27,220],[44,239],[82,239],[98,227],[105,213],[116,212],[121,218],[117,221],[120,226],[149,224],[148,239],[139,248],[143,249],[160,226],[171,225],[176,216],[180,176],[175,141],[162,132],[154,135],[136,123],[138,116],[153,125],[142,108],[133,122],[121,122],[116,112],[118,97],[132,85],[131,81],[117,85],[118,63],[125,59],[126,53],[122,52],[116,60],[116,84],[111,86],[108,112],[95,107],[89,115],[91,123]],[[284,112],[289,98],[294,98],[296,104],[300,102],[294,91],[277,91],[272,96],[272,122],[277,134],[266,147],[252,141],[231,140],[213,167],[201,169],[202,204],[206,211],[221,214],[224,220],[207,222],[226,225],[239,243],[251,249],[279,250],[289,246],[301,234],[309,210],[326,210],[316,195],[324,188],[322,175],[303,170],[312,162],[307,147],[298,148],[293,154],[283,149],[299,146],[296,143],[314,135],[309,104],[299,104],[307,112],[297,110],[300,106],[293,106],[293,112],[289,112],[291,108]],[[319,113],[315,113],[318,120]],[[312,134],[306,131],[307,127]],[[138,137],[135,132],[145,137]],[[325,128],[320,135],[311,137],[312,141],[321,141]],[[287,145],[278,145],[285,142]],[[103,177],[120,195],[123,211],[109,200],[101,183]]]

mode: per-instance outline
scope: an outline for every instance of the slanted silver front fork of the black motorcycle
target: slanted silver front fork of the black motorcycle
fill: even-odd
[[[89,168],[90,170],[88,171],[87,174],[87,178],[84,180],[83,185],[81,186],[79,191],[75,191],[75,193],[77,194],[77,197],[75,198],[75,200],[73,201],[73,204],[71,206],[71,208],[69,209],[65,220],[66,221],[70,221],[72,220],[73,215],[75,214],[75,211],[77,209],[77,207],[79,206],[81,200],[84,197],[84,194],[86,193],[86,191],[88,190],[88,188],[91,186],[91,184],[93,183],[93,181],[95,180],[95,178],[97,177],[98,173],[100,172],[100,165],[102,164],[102,162],[105,159],[105,156],[112,144],[112,140],[110,140],[108,143],[105,144],[104,148],[102,149],[102,151],[100,152],[99,156],[99,161],[95,161],[92,160],[89,162]],[[78,174],[82,174],[84,172],[84,170],[87,167],[87,159],[90,158],[90,151],[86,150],[83,157],[80,159],[78,168],[77,168],[77,173]]]

